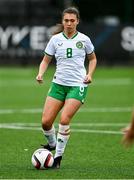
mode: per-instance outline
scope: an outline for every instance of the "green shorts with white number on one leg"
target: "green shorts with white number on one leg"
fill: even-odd
[[[65,101],[66,99],[77,99],[82,104],[84,103],[87,93],[87,87],[84,86],[63,86],[60,84],[52,83],[48,96],[51,96],[60,101]]]

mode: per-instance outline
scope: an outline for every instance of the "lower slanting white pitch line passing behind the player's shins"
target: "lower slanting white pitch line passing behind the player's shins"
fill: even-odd
[[[26,123],[27,124],[27,123]],[[17,126],[16,126],[17,125]],[[15,130],[42,130],[41,127],[24,127],[24,126],[21,126],[21,124],[0,124],[0,128],[3,128],[3,129],[15,129]],[[86,124],[85,124],[86,126]],[[77,132],[77,133],[95,133],[95,134],[123,134],[121,131],[108,131],[108,130],[89,130],[89,129],[73,129],[71,128],[71,132]]]

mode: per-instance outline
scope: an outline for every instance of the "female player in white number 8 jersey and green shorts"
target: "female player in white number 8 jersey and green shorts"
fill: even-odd
[[[56,72],[42,114],[42,128],[48,141],[43,147],[50,151],[56,149],[53,168],[60,168],[70,136],[71,119],[84,103],[87,86],[92,82],[96,68],[97,60],[93,44],[89,37],[76,29],[79,19],[79,11],[75,7],[63,11],[61,28],[59,27],[57,34],[48,42],[36,77],[39,83],[43,82],[43,74],[55,56]],[[89,60],[87,73],[84,67],[85,56]],[[56,138],[53,123],[61,109]]]

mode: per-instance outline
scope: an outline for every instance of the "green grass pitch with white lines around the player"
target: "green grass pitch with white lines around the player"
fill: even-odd
[[[37,71],[0,68],[0,179],[134,179],[134,147],[121,144],[134,107],[134,68],[97,67],[57,171],[31,164],[33,151],[46,142],[41,112],[54,68],[42,85],[35,81]]]

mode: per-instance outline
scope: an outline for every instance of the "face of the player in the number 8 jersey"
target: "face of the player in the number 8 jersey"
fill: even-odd
[[[62,24],[65,32],[75,32],[79,20],[75,14],[65,13],[62,19]]]

